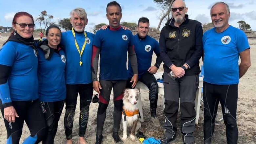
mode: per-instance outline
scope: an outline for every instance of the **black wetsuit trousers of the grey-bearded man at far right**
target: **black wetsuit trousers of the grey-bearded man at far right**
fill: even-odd
[[[203,105],[204,105],[204,140],[212,139],[215,126],[215,118],[219,102],[222,107],[226,136],[228,144],[236,144],[238,128],[236,123],[236,109],[238,98],[238,84],[216,85],[203,82]]]

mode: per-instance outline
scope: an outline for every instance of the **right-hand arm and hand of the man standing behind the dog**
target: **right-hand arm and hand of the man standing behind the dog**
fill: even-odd
[[[136,53],[134,51],[134,45],[128,47],[128,58],[130,60],[130,64],[133,70],[133,77],[130,82],[133,82],[132,88],[134,88],[138,81],[138,64]]]

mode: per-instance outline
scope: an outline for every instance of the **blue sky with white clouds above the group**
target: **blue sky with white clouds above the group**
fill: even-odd
[[[77,7],[84,8],[87,12],[88,25],[86,31],[92,31],[93,27],[100,23],[108,24],[106,18],[106,6],[111,0],[1,0],[0,26],[11,27],[13,16],[16,12],[26,11],[34,19],[41,11],[46,10],[53,15],[51,22],[63,18],[69,18],[69,13]],[[161,9],[153,0],[116,0],[122,7],[121,22],[137,23],[140,17],[150,20],[150,27],[157,27]],[[185,0],[190,19],[195,19],[202,24],[211,22],[210,8],[219,0]],[[229,24],[238,27],[238,21],[243,20],[256,31],[256,1],[255,0],[223,0],[230,7],[231,16]],[[164,26],[162,23],[160,29]],[[36,22],[36,28],[40,28]]]

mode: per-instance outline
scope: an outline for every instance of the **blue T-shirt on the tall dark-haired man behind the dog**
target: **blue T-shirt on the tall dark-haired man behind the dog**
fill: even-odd
[[[99,30],[93,45],[100,48],[100,80],[127,80],[127,51],[133,46],[130,30]]]

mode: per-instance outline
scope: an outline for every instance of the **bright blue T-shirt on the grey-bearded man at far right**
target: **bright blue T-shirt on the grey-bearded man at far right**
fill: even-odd
[[[245,33],[233,26],[217,33],[215,28],[203,35],[204,78],[212,84],[239,83],[239,53],[250,48]]]

